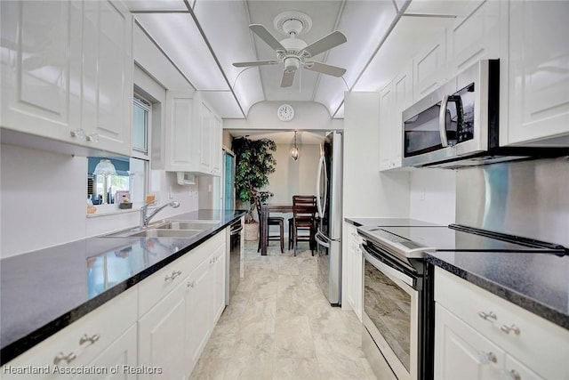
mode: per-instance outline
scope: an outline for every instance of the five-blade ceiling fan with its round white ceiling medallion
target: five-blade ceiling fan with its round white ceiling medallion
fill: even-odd
[[[275,28],[288,36],[288,38],[284,38],[284,40],[279,42],[263,25],[249,25],[253,33],[275,50],[276,60],[235,62],[233,66],[236,68],[246,68],[284,63],[281,87],[290,87],[293,85],[294,74],[301,67],[333,77],[343,76],[346,69],[322,62],[311,61],[310,59],[339,44],[345,43],[348,41],[346,36],[336,30],[312,44],[307,44],[300,38],[297,38],[297,36],[302,33],[309,31],[311,26],[312,20],[309,18],[309,15],[302,12],[283,12],[276,16]]]

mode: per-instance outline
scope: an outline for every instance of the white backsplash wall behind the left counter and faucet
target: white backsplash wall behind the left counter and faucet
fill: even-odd
[[[138,224],[137,212],[85,217],[87,158],[0,145],[0,257],[20,255]],[[180,207],[160,217],[198,208],[197,185],[180,186],[175,174],[155,171],[150,191],[160,203]],[[193,190],[193,194],[192,194]]]

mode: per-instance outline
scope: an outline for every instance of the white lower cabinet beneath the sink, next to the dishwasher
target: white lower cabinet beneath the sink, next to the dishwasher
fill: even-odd
[[[160,290],[164,273],[188,273],[172,279],[179,284],[140,318],[139,365],[162,368],[162,374],[143,374],[139,379],[185,379],[196,366],[225,308],[225,239],[223,230],[144,280]]]

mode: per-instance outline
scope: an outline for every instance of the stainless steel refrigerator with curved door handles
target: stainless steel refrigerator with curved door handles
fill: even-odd
[[[333,305],[341,304],[341,137],[339,132],[326,135],[317,171],[317,280]]]

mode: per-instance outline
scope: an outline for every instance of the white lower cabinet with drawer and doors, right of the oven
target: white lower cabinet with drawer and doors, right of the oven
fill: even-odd
[[[435,271],[435,379],[567,379],[569,330]]]

